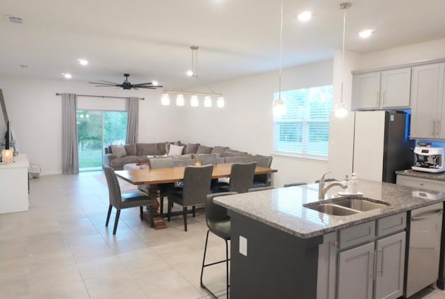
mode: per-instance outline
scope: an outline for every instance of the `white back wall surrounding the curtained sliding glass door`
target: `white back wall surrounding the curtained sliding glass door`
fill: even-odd
[[[111,95],[115,97],[145,97],[140,101],[140,142],[162,142],[181,138],[182,114],[176,107],[160,105],[161,90],[117,90],[95,88],[75,81],[49,81],[0,76],[0,88],[8,110],[8,117],[17,135],[19,152],[29,161],[42,167],[42,175],[62,172],[62,97],[56,92],[79,95]],[[88,102],[91,100],[92,102]],[[124,107],[124,99],[83,98],[79,104],[99,108]],[[94,104],[93,104],[94,103]],[[112,103],[112,104],[111,104]]]

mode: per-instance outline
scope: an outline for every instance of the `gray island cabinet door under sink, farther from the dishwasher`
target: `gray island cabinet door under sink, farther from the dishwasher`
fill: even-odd
[[[339,253],[337,299],[372,299],[374,245],[367,243]]]

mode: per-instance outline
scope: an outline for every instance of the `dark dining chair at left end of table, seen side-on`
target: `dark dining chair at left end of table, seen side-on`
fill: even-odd
[[[113,168],[106,165],[102,165],[102,168],[105,172],[106,184],[108,185],[108,195],[110,197],[110,207],[108,207],[108,214],[106,216],[105,226],[108,227],[108,222],[111,216],[111,209],[115,207],[117,211],[116,218],[114,220],[113,234],[116,234],[121,209],[139,207],[140,220],[143,220],[143,206],[148,205],[149,209],[152,209],[152,200],[150,200],[148,195],[140,191],[122,194],[120,192],[118,177],[116,177]]]

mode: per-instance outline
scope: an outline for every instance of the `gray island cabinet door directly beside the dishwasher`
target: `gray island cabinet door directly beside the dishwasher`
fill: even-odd
[[[377,241],[375,299],[392,299],[403,295],[405,235],[405,232],[400,232]]]

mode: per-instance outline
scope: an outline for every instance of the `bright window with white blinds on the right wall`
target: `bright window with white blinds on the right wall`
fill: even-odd
[[[278,92],[274,99],[278,99]],[[329,145],[332,85],[281,92],[286,114],[274,115],[273,150],[277,154],[323,159]]]

